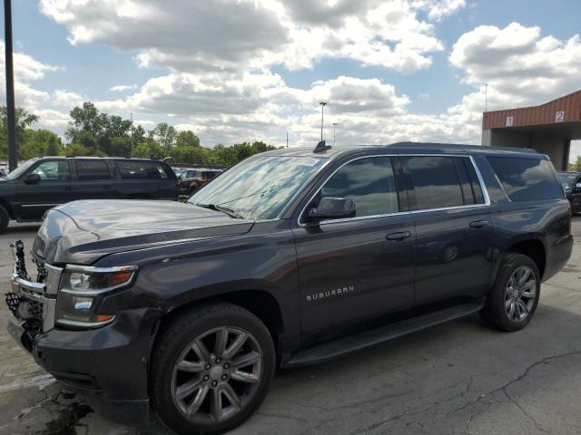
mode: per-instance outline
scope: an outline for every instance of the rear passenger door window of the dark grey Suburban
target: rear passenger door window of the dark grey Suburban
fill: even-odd
[[[464,205],[458,171],[451,157],[408,157],[416,209]]]

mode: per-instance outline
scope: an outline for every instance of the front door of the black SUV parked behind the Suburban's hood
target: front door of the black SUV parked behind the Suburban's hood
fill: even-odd
[[[73,199],[68,161],[42,160],[28,174],[37,174],[40,180],[34,184],[18,181],[16,207],[20,219],[40,219],[46,210]]]

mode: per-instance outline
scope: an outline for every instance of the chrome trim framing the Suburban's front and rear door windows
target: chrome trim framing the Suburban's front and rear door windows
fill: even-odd
[[[299,214],[299,218],[297,218],[297,225],[299,227],[309,227],[308,224],[305,223],[301,223],[300,219],[302,218],[302,214],[305,212],[307,206],[309,206],[310,201],[312,201],[313,198],[315,198],[317,196],[317,194],[320,192],[320,189],[322,189],[325,184],[327,183],[327,181],[329,181],[329,179],[335,175],[335,173],[341,169],[343,166],[349,164],[351,161],[355,161],[355,160],[361,160],[361,159],[373,159],[376,157],[461,157],[461,158],[468,158],[470,160],[470,162],[472,163],[472,167],[474,168],[474,170],[476,171],[476,175],[477,175],[477,179],[478,179],[478,184],[480,185],[480,189],[482,190],[482,195],[484,197],[484,203],[483,204],[465,204],[463,206],[453,206],[453,207],[443,207],[443,208],[426,208],[426,209],[422,209],[422,210],[409,210],[409,211],[397,211],[397,212],[393,212],[393,213],[386,213],[383,215],[370,215],[370,216],[359,216],[359,217],[355,217],[355,218],[340,218],[340,219],[328,219],[328,220],[321,220],[319,222],[319,225],[329,225],[329,224],[334,224],[334,223],[340,223],[340,222],[350,222],[350,221],[357,221],[357,220],[364,220],[364,219],[373,219],[373,218],[387,218],[390,216],[400,216],[400,215],[412,215],[412,214],[416,214],[416,213],[428,213],[430,211],[445,211],[445,210],[457,210],[457,209],[465,209],[465,208],[484,208],[484,207],[489,207],[490,206],[490,196],[488,195],[488,190],[486,187],[486,184],[484,182],[484,179],[482,178],[482,174],[480,173],[480,169],[478,169],[478,165],[476,164],[476,161],[474,160],[473,156],[468,155],[468,154],[458,154],[458,153],[446,153],[446,154],[407,154],[407,153],[400,153],[400,154],[375,154],[375,155],[367,155],[367,156],[359,156],[356,157],[354,159],[350,159],[347,160],[346,162],[344,162],[342,165],[340,165],[339,168],[335,169],[329,177],[327,177],[320,185],[319,189],[317,189],[317,191],[315,191],[315,193],[310,197],[309,201],[307,201],[307,203],[305,204],[305,206],[300,210],[300,214]]]

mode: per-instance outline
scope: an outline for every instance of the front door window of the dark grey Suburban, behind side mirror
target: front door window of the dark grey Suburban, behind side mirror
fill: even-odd
[[[320,196],[353,199],[357,217],[399,211],[396,182],[389,157],[351,161],[325,183]]]

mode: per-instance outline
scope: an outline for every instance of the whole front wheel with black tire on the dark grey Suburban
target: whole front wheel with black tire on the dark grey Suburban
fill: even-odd
[[[196,308],[174,319],[156,342],[153,407],[180,434],[231,430],[260,406],[275,365],[271,334],[254,314],[234,304]]]

